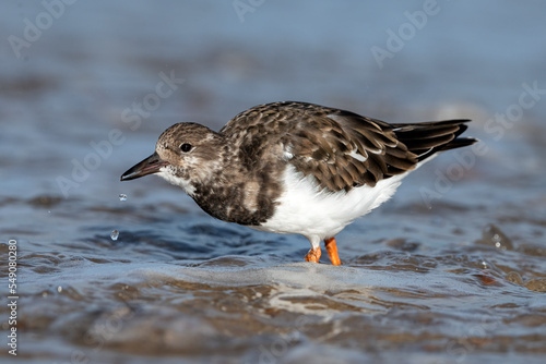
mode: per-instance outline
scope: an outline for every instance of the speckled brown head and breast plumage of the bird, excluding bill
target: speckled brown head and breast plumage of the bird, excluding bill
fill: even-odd
[[[180,145],[192,146],[187,156]],[[281,193],[274,177],[281,161],[254,163],[223,133],[194,123],[178,123],[167,129],[156,145],[163,160],[176,160],[173,173],[191,181],[191,193],[209,215],[228,222],[258,226],[273,214]]]

